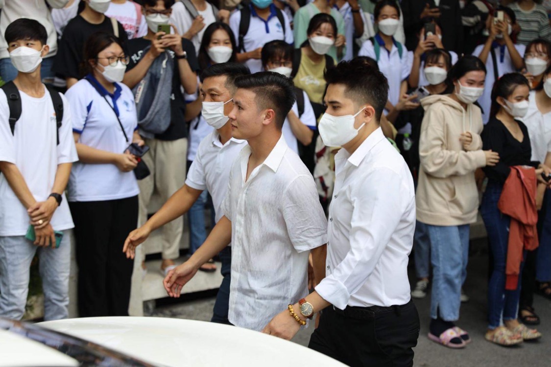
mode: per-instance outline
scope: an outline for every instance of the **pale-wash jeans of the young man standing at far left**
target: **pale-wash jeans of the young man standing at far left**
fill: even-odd
[[[44,319],[69,315],[70,231],[63,231],[60,247],[35,246],[24,236],[0,237],[0,316],[20,320],[25,313],[31,261],[38,251],[44,292]]]

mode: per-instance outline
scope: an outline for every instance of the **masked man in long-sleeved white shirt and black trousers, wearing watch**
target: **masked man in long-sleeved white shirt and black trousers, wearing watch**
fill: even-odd
[[[415,229],[413,178],[380,127],[384,76],[364,62],[327,70],[320,136],[335,156],[326,277],[295,299],[300,320],[323,310],[309,347],[350,366],[411,366],[419,315],[407,273]],[[284,309],[284,308],[283,308]],[[287,310],[264,332],[290,339],[299,327]]]

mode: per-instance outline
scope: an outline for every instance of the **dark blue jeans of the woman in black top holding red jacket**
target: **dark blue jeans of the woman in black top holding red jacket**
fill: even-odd
[[[490,180],[482,197],[480,214],[488,233],[488,242],[493,255],[493,271],[488,284],[488,328],[495,329],[503,320],[517,318],[518,300],[520,298],[521,276],[518,276],[518,287],[515,291],[505,290],[505,267],[507,247],[509,246],[509,224],[511,218],[503,215],[498,209],[498,201],[503,185]],[[526,258],[526,251],[523,255]]]

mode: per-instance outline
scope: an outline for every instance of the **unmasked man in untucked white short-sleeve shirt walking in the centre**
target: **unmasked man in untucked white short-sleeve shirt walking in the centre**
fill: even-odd
[[[260,331],[282,308],[308,294],[310,251],[315,273],[323,273],[327,221],[314,179],[282,137],[294,102],[291,80],[261,72],[237,78],[235,86],[232,135],[249,145],[231,167],[224,216],[164,284],[171,297],[179,297],[198,267],[231,240],[228,318]],[[291,320],[299,325],[298,319]]]

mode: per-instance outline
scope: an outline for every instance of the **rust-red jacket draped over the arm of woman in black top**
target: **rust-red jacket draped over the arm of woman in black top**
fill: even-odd
[[[536,170],[533,167],[513,166],[499,198],[498,209],[511,217],[505,268],[505,289],[508,291],[518,287],[522,251],[534,250],[539,244],[536,185]]]

